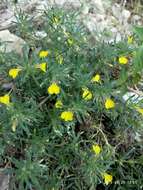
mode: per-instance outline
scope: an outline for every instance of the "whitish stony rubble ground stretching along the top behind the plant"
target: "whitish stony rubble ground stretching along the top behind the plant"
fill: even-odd
[[[0,0],[1,2],[8,0]],[[11,2],[11,1],[10,1]],[[107,3],[108,2],[108,3]],[[15,6],[12,3],[3,3],[0,9],[0,30],[9,29],[16,22],[14,17]],[[131,15],[131,12],[119,3],[109,3],[103,0],[20,0],[16,4],[17,10],[25,12],[34,24],[40,25],[44,10],[50,7],[59,7],[66,10],[78,10],[79,21],[83,22],[87,30],[94,37],[97,32],[111,33],[111,39],[119,41],[120,36],[125,36],[131,31],[132,24],[142,24],[142,17]],[[39,24],[38,24],[39,23]],[[115,30],[115,27],[117,30]],[[98,29],[98,30],[97,30]],[[94,34],[94,33],[95,34]],[[36,38],[42,38],[42,33],[37,33]]]

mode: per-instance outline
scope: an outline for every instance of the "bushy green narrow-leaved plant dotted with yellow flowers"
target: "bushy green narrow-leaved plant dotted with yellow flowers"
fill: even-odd
[[[0,161],[11,189],[140,188],[143,101],[123,95],[140,87],[141,32],[91,43],[75,13],[53,8],[39,26],[17,22],[23,55],[0,54]]]

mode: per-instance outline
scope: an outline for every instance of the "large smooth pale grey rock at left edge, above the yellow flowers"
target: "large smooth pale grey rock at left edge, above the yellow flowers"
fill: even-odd
[[[26,44],[25,41],[18,36],[9,32],[9,30],[0,31],[0,51],[12,52],[22,55],[22,48]]]

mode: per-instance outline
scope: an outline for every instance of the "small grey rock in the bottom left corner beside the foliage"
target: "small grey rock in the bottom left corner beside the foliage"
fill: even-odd
[[[0,173],[0,190],[9,189],[9,175]]]

